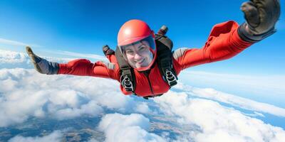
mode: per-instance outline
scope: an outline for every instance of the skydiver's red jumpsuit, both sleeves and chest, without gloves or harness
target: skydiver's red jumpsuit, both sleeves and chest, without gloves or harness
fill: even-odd
[[[212,28],[203,48],[175,50],[172,60],[177,75],[187,67],[232,58],[252,45],[239,37],[237,28],[238,24],[234,21],[219,23]],[[95,63],[86,59],[71,60],[67,64],[59,65],[58,74],[105,77],[120,82],[120,68],[115,55],[109,55],[108,59],[110,62]],[[148,77],[135,70],[135,79],[135,94],[141,97],[163,94],[170,89],[170,86],[162,79],[157,63],[150,70]],[[126,92],[122,85],[120,89],[124,94],[132,94],[132,92]]]

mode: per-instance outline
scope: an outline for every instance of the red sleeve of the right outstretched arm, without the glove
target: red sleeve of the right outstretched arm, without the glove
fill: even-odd
[[[253,43],[242,40],[237,32],[238,24],[234,21],[219,23],[212,28],[203,48],[180,48],[173,57],[177,72],[187,67],[216,62],[234,57]]]

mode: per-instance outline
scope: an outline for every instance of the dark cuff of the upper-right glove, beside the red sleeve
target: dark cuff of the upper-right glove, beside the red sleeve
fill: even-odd
[[[269,35],[272,35],[273,33],[276,32],[276,30],[273,27],[266,33],[262,33],[260,35],[254,35],[246,31],[245,29],[246,26],[247,26],[247,23],[242,23],[242,25],[240,25],[239,28],[237,29],[237,33],[239,33],[239,37],[242,38],[242,40],[247,41],[249,43],[257,43],[260,40],[263,40],[264,38],[267,38],[269,37]]]

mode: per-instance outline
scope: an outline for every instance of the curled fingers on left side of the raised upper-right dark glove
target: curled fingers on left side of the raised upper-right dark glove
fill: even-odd
[[[244,2],[241,10],[244,12],[244,17],[250,26],[253,28],[259,26],[259,11],[252,1]]]

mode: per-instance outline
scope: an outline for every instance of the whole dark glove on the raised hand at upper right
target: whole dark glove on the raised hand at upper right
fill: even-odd
[[[256,42],[273,34],[280,16],[279,0],[250,0],[241,6],[247,23],[239,27],[239,35]]]

